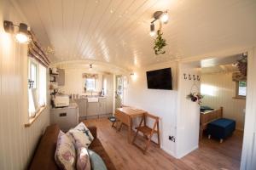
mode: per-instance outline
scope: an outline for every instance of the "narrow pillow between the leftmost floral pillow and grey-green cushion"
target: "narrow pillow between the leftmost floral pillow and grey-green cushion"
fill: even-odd
[[[88,150],[84,147],[78,148],[77,169],[78,170],[91,170],[90,156],[89,156]]]

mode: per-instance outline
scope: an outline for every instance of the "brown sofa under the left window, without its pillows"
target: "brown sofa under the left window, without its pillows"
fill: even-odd
[[[105,162],[108,170],[115,170],[113,162],[110,160],[108,153],[104,150],[101,141],[97,138],[96,127],[88,127],[90,133],[94,136],[93,142],[89,149],[94,150]],[[38,143],[38,147],[32,157],[32,161],[28,167],[31,170],[55,170],[59,169],[55,163],[55,149],[60,127],[50,125],[46,128],[44,135]]]

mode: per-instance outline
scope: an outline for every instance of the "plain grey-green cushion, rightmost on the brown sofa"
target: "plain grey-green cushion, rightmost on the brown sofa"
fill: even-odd
[[[96,154],[93,150],[88,150],[90,156],[91,170],[107,170],[107,167],[102,160],[102,157]]]

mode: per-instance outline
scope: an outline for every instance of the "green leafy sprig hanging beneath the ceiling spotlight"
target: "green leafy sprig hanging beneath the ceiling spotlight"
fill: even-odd
[[[162,37],[163,33],[160,31],[160,29],[157,31],[157,37],[154,40],[154,54],[165,54],[166,51],[163,49],[167,43],[166,39]]]

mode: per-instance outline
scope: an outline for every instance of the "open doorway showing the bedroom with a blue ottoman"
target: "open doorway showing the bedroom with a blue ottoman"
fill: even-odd
[[[227,162],[223,168],[239,169],[246,111],[247,53],[203,59],[200,70],[203,99],[199,148],[211,150],[216,158],[222,157]],[[225,135],[218,128],[222,120],[230,123],[220,125],[224,130],[230,128]]]

